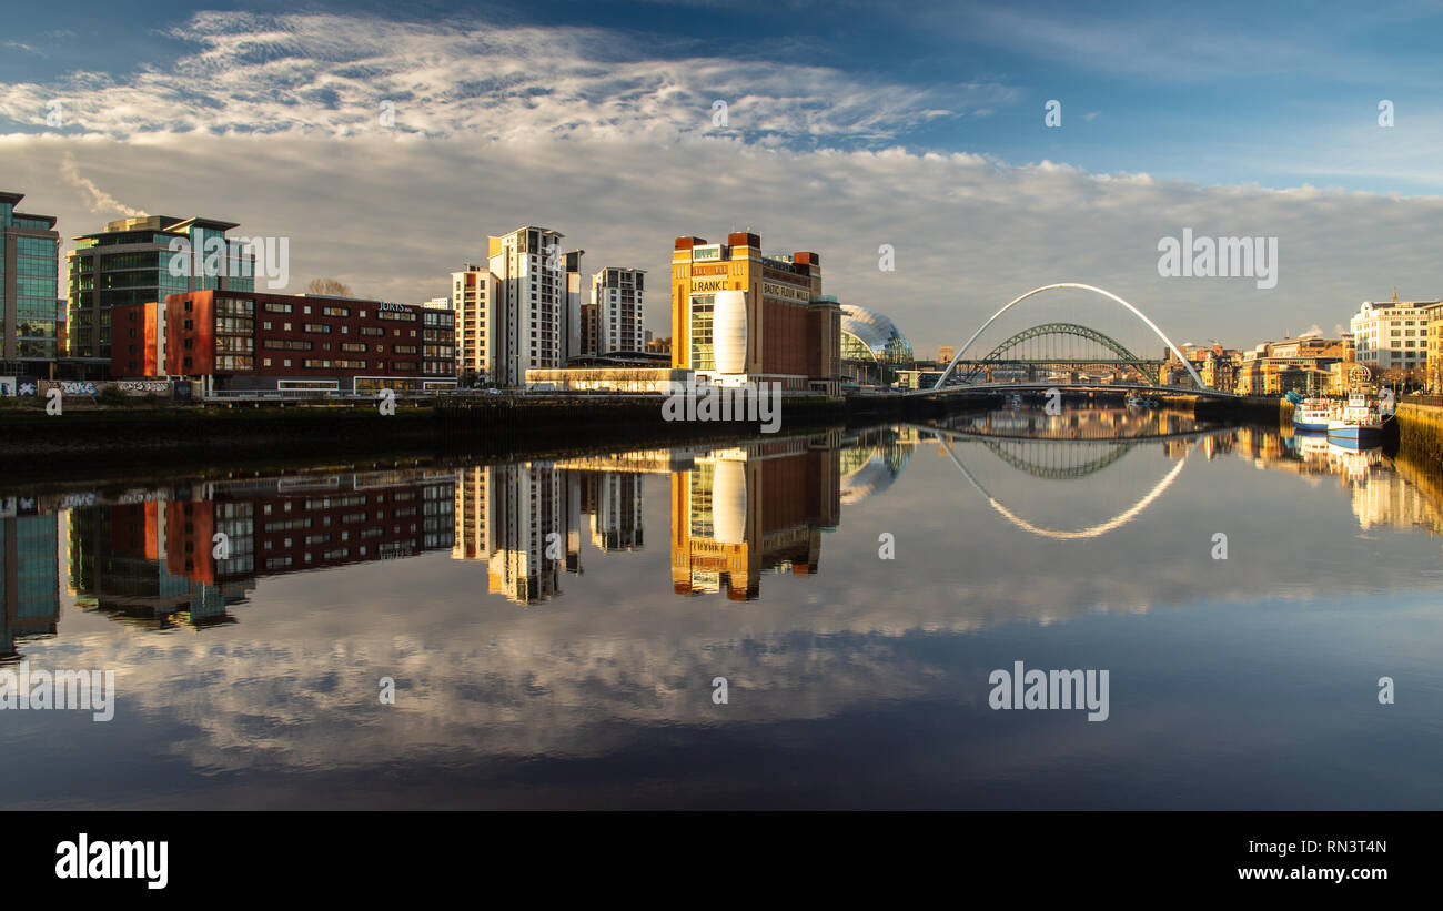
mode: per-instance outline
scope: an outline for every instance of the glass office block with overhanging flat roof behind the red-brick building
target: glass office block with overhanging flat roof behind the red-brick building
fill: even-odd
[[[237,226],[211,218],[146,215],[75,238],[75,249],[66,254],[68,355],[110,360],[111,307],[160,303],[188,291],[254,291],[254,257],[241,241],[225,236]],[[177,239],[185,244],[173,245]],[[159,337],[165,363],[165,326]]]

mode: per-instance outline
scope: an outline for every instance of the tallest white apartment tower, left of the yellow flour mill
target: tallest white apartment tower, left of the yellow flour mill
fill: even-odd
[[[488,332],[492,345],[491,379],[525,382],[528,369],[564,368],[570,319],[567,310],[563,235],[525,226],[489,244],[489,272],[498,283]]]

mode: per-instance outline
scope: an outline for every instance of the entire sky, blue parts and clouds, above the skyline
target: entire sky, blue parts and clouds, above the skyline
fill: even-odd
[[[289,291],[421,301],[530,223],[652,272],[668,334],[672,238],[749,228],[919,356],[1063,281],[1242,347],[1443,297],[1440,36],[1443,3],[26,4],[0,189],[66,238],[289,238]],[[1276,287],[1160,275],[1183,231],[1277,238]]]

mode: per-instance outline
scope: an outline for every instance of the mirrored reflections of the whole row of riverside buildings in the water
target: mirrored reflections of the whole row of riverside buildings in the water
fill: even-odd
[[[1162,440],[1163,450],[1182,458],[1195,441],[1206,458],[1333,477],[1361,528],[1443,532],[1443,481],[1405,461],[1260,428],[1198,440],[1189,421],[1004,411],[962,427],[1072,440],[1188,434]],[[541,604],[561,595],[563,574],[584,574],[586,541],[620,559],[642,549],[648,474],[670,481],[672,591],[753,600],[765,572],[817,572],[823,533],[840,525],[843,506],[885,492],[932,438],[911,427],[834,430],[459,470],[216,480],[108,502],[0,497],[0,660],[14,660],[27,637],[56,633],[66,592],[128,624],[201,630],[234,623],[231,608],[261,578],[429,552],[483,564],[489,594]]]

